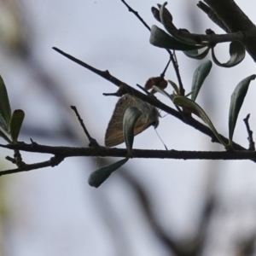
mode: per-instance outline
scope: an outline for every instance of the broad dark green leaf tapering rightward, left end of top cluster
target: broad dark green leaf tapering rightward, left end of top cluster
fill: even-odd
[[[175,38],[172,38],[169,34],[155,25],[151,27],[149,42],[154,46],[165,49],[190,50],[202,48],[202,46],[184,44],[180,41],[177,41]]]

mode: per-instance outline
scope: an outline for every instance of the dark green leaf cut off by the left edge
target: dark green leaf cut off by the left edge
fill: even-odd
[[[11,119],[11,109],[9,105],[8,93],[1,76],[0,76],[0,114],[3,117],[6,127],[9,128],[9,122]],[[4,131],[6,130],[4,129]]]

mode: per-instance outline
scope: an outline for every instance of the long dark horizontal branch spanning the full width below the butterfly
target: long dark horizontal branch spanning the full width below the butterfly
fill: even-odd
[[[126,157],[125,148],[82,148],[82,147],[52,147],[40,145],[38,143],[17,143],[0,144],[2,148],[19,149],[21,151],[55,154],[64,159],[74,156],[97,156],[97,157]],[[132,158],[152,158],[152,159],[177,159],[177,160],[255,160],[256,152],[243,151],[179,151],[179,150],[148,150],[132,149]]]

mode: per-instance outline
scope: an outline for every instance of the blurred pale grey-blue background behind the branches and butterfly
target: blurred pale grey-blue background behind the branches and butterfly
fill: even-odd
[[[127,0],[149,26],[154,0]],[[172,0],[174,24],[190,32],[212,28],[223,33],[195,0]],[[253,21],[254,1],[236,1]],[[103,144],[117,90],[55,52],[57,47],[136,87],[159,76],[169,59],[149,44],[149,32],[120,0],[0,0],[0,74],[12,110],[26,113],[20,141],[55,146],[87,146],[70,109]],[[229,44],[218,45],[220,61]],[[208,58],[211,58],[208,56]],[[183,84],[190,90],[202,61],[177,52]],[[206,61],[206,59],[204,60]],[[249,55],[233,68],[213,64],[198,102],[224,136],[228,135],[230,95],[241,79],[255,73]],[[172,65],[166,79],[177,82]],[[171,88],[167,91],[172,92]],[[255,81],[248,90],[234,140],[248,147],[242,119],[251,113],[255,131]],[[172,106],[164,96],[158,98]],[[162,115],[165,115],[162,113]],[[169,149],[223,150],[170,115],[157,128]],[[3,143],[3,141],[1,142]],[[125,147],[120,145],[120,147]],[[135,138],[134,148],[164,149],[153,128]],[[1,169],[14,168],[1,148]],[[26,163],[50,155],[22,153]],[[89,186],[90,172],[116,159],[72,158],[55,168],[0,178],[0,255],[2,256],[153,256],[254,255],[256,166],[248,160],[130,160],[99,189]]]

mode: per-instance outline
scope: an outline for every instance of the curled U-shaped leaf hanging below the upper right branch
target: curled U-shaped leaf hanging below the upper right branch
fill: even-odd
[[[230,61],[226,63],[220,63],[215,54],[214,48],[212,48],[212,60],[220,67],[234,67],[239,64],[245,57],[245,48],[244,46],[237,41],[230,43]]]

